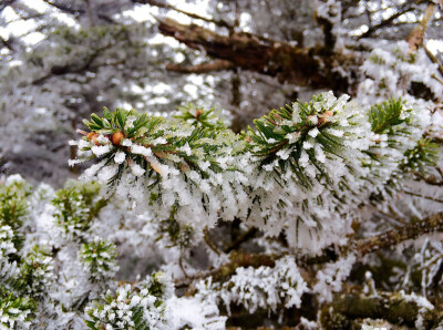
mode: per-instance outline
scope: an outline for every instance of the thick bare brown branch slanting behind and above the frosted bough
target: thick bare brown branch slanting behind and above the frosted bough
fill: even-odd
[[[280,82],[348,91],[349,83],[334,70],[352,66],[353,55],[329,54],[323,48],[303,49],[291,43],[264,39],[244,32],[222,35],[195,24],[184,25],[172,19],[158,19],[158,29],[208,55],[226,60],[237,68],[277,76]]]

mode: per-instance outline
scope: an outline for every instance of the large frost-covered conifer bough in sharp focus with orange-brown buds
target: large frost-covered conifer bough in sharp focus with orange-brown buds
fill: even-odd
[[[430,114],[389,100],[370,110],[321,93],[254,121],[235,134],[214,110],[187,105],[172,116],[103,111],[72,142],[96,158],[83,175],[161,218],[195,229],[241,219],[292,248],[319,252],[350,230],[357,207],[392,194],[412,171],[437,159],[423,140]]]

